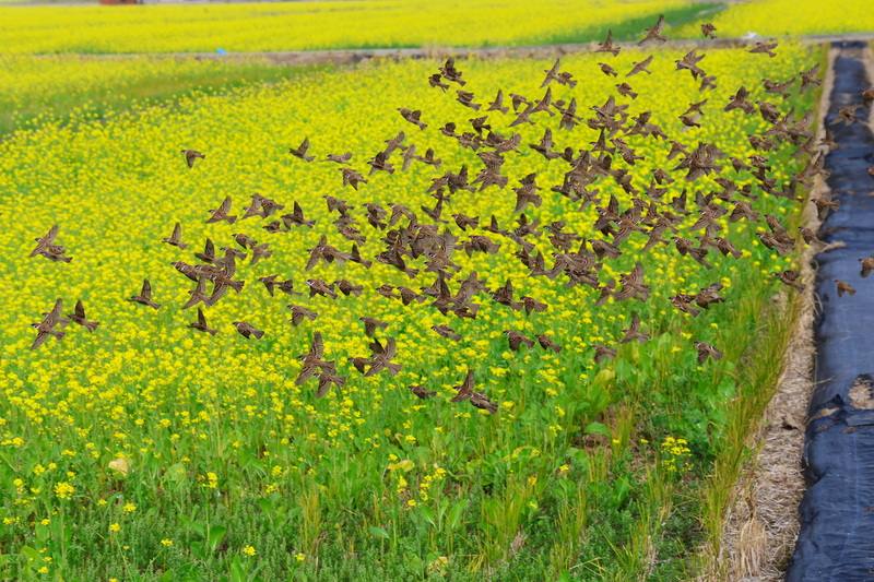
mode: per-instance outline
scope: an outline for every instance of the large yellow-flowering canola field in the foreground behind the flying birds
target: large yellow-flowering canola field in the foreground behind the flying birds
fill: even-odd
[[[653,74],[634,80],[646,106],[629,100],[631,110],[651,109],[652,120],[684,143],[713,142],[745,158],[753,153],[747,134],[766,129],[765,122],[724,112],[723,104],[741,85],[754,97],[771,98],[763,94],[763,78],[788,80],[823,55],[793,46],[781,46],[773,59],[708,51],[707,69],[718,86],[706,94],[712,107],[706,107],[701,128],[677,120],[688,103],[704,98],[699,83],[674,71],[678,57],[656,52]],[[614,64],[625,70],[640,58],[626,51]],[[557,87],[556,97],[602,104],[614,81],[598,71],[599,60],[563,60],[584,81],[575,90]],[[470,88],[483,96],[499,87],[535,93],[550,64],[459,62]],[[437,66],[315,71],[229,95],[193,95],[173,108],[46,121],[0,143],[0,575],[196,580],[205,573],[236,581],[688,574],[688,556],[707,535],[699,522],[707,475],[725,451],[733,403],[770,389],[763,381],[767,373],[757,376],[758,358],[779,353],[779,333],[767,325],[779,328],[782,313],[764,313],[775,294],[784,293],[772,273],[792,268],[793,258],[765,249],[749,225],[723,216],[720,224],[742,249],[743,262],[711,253],[713,268],[705,271],[656,247],[637,257],[650,300],[629,307],[613,299],[598,306],[592,289],[532,278],[503,254],[457,253],[461,272],[475,270],[489,289],[509,280],[519,295],[548,305],[527,314],[483,300],[472,321],[376,295],[378,285],[409,281],[386,264],[319,264],[305,272],[307,249],[333,231],[324,195],[418,209],[433,204],[425,190],[439,174],[413,165],[391,177],[377,174],[352,191],[341,186],[336,167],[321,161],[326,154],[350,151],[363,161],[402,130],[420,151],[434,147],[445,167],[475,162],[438,131],[448,121],[465,123],[471,111],[428,87]],[[677,75],[670,93],[668,75]],[[801,115],[814,99],[793,91],[778,103],[783,112]],[[410,126],[395,107],[423,109],[428,129]],[[511,117],[498,119],[506,130]],[[542,134],[542,128],[525,126],[517,131],[523,143]],[[318,162],[288,155],[304,136]],[[563,144],[597,136],[584,123],[556,132]],[[628,141],[646,153],[633,168],[643,186],[666,164],[668,146]],[[180,149],[206,157],[189,169]],[[788,144],[769,153],[775,178],[801,169],[792,154]],[[528,147],[507,165],[513,176],[538,171],[542,185],[560,183],[557,168]],[[706,179],[696,189],[707,183],[718,188]],[[615,183],[599,188],[605,199],[627,204]],[[682,189],[669,186],[665,199]],[[298,202],[314,227],[270,234],[258,219],[204,224],[226,195],[241,214],[255,192],[286,207]],[[761,197],[754,204],[787,226],[796,223],[798,203]],[[501,225],[517,216],[511,197],[494,189],[457,195],[452,211],[494,214]],[[362,253],[375,254],[383,234],[367,225],[363,210],[355,212],[367,237]],[[541,225],[564,221],[578,233],[591,229],[597,217],[594,207],[577,211],[548,192],[527,214]],[[176,222],[188,249],[161,242]],[[55,223],[73,261],[28,259],[33,239]],[[474,231],[487,234],[483,226]],[[470,235],[452,223],[446,227]],[[206,310],[217,333],[199,334],[187,326],[193,310],[180,308],[190,286],[170,263],[192,260],[206,237],[233,246],[239,231],[269,242],[273,257],[240,263],[246,286]],[[545,238],[543,233],[538,240]],[[640,249],[645,242],[631,238],[629,245]],[[609,260],[604,275],[618,277],[635,260],[630,252]],[[258,282],[270,273],[292,278],[300,290],[305,278],[318,277],[349,278],[367,293],[339,300],[271,297]],[[162,304],[156,311],[125,301],[144,277]],[[723,285],[725,305],[696,318],[672,309],[671,296],[714,282]],[[99,328],[70,329],[61,341],[29,351],[29,323],[58,297],[70,308],[81,299]],[[290,300],[318,318],[291,325]],[[594,361],[593,346],[615,343],[631,312],[651,340]],[[353,371],[323,399],[312,385],[297,385],[297,355],[315,331],[344,372],[347,357],[367,353],[362,316],[388,323],[402,370],[374,378]],[[264,336],[244,340],[232,325],[238,320]],[[460,342],[430,330],[446,323]],[[547,332],[563,349],[511,352],[506,329]],[[699,363],[694,341],[719,345],[724,357]],[[497,414],[450,402],[468,369]],[[418,400],[410,384],[437,395]]]

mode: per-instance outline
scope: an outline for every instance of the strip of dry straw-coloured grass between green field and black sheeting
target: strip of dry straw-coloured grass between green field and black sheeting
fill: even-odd
[[[823,83],[819,103],[819,136],[824,136],[825,115],[834,86],[831,63],[836,51],[828,56],[829,68]],[[828,187],[817,179],[811,195],[828,193]],[[816,230],[819,219],[813,205],[807,204],[804,223]],[[801,297],[799,317],[790,340],[777,391],[765,411],[758,430],[751,436],[755,458],[745,468],[727,511],[720,562],[710,580],[779,581],[798,536],[798,507],[804,492],[801,456],[804,448],[806,411],[813,391],[815,356],[813,322],[816,313],[814,297],[814,254],[822,245],[807,247],[802,254],[801,273],[805,290]]]

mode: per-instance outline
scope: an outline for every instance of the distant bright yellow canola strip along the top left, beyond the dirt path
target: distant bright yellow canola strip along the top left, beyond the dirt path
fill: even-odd
[[[503,46],[637,34],[709,10],[688,0],[363,0],[0,8],[0,52],[175,52]],[[62,31],[62,32],[61,32]]]

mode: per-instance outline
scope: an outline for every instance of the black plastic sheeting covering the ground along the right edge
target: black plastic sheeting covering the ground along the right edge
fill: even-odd
[[[804,447],[807,490],[789,582],[874,580],[874,275],[862,278],[859,259],[874,254],[874,135],[859,121],[836,123],[838,109],[862,104],[871,86],[863,45],[836,44],[835,87],[826,122],[839,147],[826,158],[828,186],[840,207],[820,227],[825,242],[846,246],[816,258],[816,387]],[[835,280],[854,296],[838,297]]]

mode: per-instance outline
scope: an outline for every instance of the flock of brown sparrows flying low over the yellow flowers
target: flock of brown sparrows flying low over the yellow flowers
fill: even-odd
[[[663,31],[664,19],[660,17],[646,32],[640,44],[664,41]],[[701,26],[701,32],[707,37],[712,37],[714,31],[711,24]],[[776,48],[775,41],[756,43],[749,48],[749,52],[773,57]],[[619,51],[621,47],[613,41],[610,33],[598,48],[598,52],[613,57]],[[758,194],[751,183],[741,185],[741,182],[745,181],[744,173],[748,173],[754,178],[757,190],[763,194],[802,201],[803,198],[796,193],[799,187],[808,187],[817,175],[826,173],[825,154],[835,145],[830,135],[827,134],[825,140],[817,141],[811,131],[810,117],[799,119],[793,117],[791,111],[782,115],[778,105],[765,98],[754,102],[751,97],[752,92],[741,86],[722,108],[724,111],[737,111],[736,115],[760,116],[767,122],[767,131],[748,135],[748,142],[755,153],[746,159],[739,159],[729,157],[712,143],[700,142],[695,146],[683,144],[665,134],[653,122],[650,111],[631,116],[628,110],[629,104],[638,98],[638,93],[629,84],[629,80],[637,74],[651,74],[649,66],[654,58],[654,55],[650,55],[634,63],[625,74],[624,81],[615,85],[616,95],[611,95],[603,105],[589,107],[591,114],[586,119],[575,97],[567,102],[553,97],[551,86],[553,83],[571,88],[577,84],[570,72],[562,70],[559,60],[545,71],[541,85],[545,92],[541,97],[516,93],[505,96],[499,90],[494,99],[485,104],[480,102],[480,96],[463,88],[466,81],[462,71],[456,67],[452,58],[447,59],[439,70],[428,78],[430,87],[447,95],[454,88],[458,103],[476,111],[475,115],[480,117],[469,119],[470,128],[448,122],[439,131],[447,139],[456,141],[460,147],[475,152],[481,162],[479,171],[474,175],[466,166],[462,166],[457,173],[447,170],[435,176],[427,188],[427,193],[434,198],[434,204],[421,206],[421,213],[403,204],[390,204],[388,209],[373,202],[363,204],[364,218],[371,229],[381,234],[383,237],[381,240],[385,242],[385,249],[370,258],[365,258],[359,250],[359,245],[366,237],[356,219],[358,209],[341,198],[326,195],[328,211],[335,216],[333,225],[336,236],[351,244],[351,249],[341,250],[329,241],[328,235],[322,235],[309,249],[304,270],[309,271],[320,262],[329,264],[354,262],[365,269],[370,268],[373,261],[385,263],[401,271],[411,281],[422,281],[425,277],[427,280],[418,289],[383,284],[376,288],[380,296],[401,301],[403,306],[428,304],[428,307],[444,314],[475,319],[481,307],[476,301],[483,295],[507,309],[524,310],[528,314],[544,311],[548,306],[534,297],[520,296],[510,281],[489,288],[476,272],[462,276],[461,266],[453,261],[453,254],[459,250],[471,256],[494,254],[500,249],[507,252],[508,248],[512,248],[512,252],[508,254],[519,260],[529,270],[531,277],[550,280],[560,277],[568,286],[590,287],[598,295],[597,305],[600,306],[611,297],[616,301],[649,299],[650,287],[646,283],[640,262],[636,262],[627,273],[622,273],[617,277],[618,281],[603,280],[601,273],[604,261],[623,254],[625,252],[623,246],[631,237],[646,239],[643,252],[657,246],[673,246],[676,252],[696,261],[704,269],[711,268],[708,259],[711,252],[735,260],[742,259],[741,252],[732,245],[720,225],[720,218],[725,215],[731,223],[763,222],[764,228],[758,229],[756,235],[766,247],[780,254],[792,252],[799,242],[814,241],[815,234],[810,229],[801,227],[800,231],[793,235],[777,217],[761,216],[756,212],[753,203]],[[702,93],[714,88],[717,83],[716,76],[708,74],[701,68],[704,58],[705,55],[698,54],[696,49],[675,61],[677,74],[690,74],[696,82],[700,82]],[[609,76],[619,75],[609,62],[599,63],[599,69]],[[772,96],[771,99],[782,99],[789,96],[795,84],[801,92],[804,92],[819,85],[820,81],[818,69],[814,67],[787,81],[775,82],[765,79],[761,84],[764,92]],[[874,90],[871,93],[866,94],[866,99],[874,99]],[[627,103],[619,103],[621,99]],[[686,127],[701,127],[707,104],[707,98],[690,104],[678,115],[678,119]],[[418,130],[428,127],[421,110],[399,108],[398,111],[404,121]],[[854,116],[855,108],[841,109],[840,121],[854,122]],[[553,128],[547,124],[556,117],[557,131],[571,130],[577,124],[584,123],[597,131],[599,136],[588,144],[588,147],[562,149],[556,145]],[[575,206],[578,205],[578,210],[568,207],[567,212],[581,212],[588,207],[594,207],[597,211],[597,219],[591,225],[593,235],[589,238],[569,230],[563,221],[541,226],[538,219],[527,214],[530,207],[540,206],[543,200],[541,194],[543,188],[538,185],[536,174],[519,178],[518,186],[511,188],[515,195],[515,213],[518,214],[515,225],[500,225],[494,215],[486,218],[454,213],[449,217],[459,228],[457,233],[462,238],[444,226],[449,223],[447,215],[453,197],[493,187],[506,191],[510,177],[503,173],[503,166],[507,156],[525,150],[521,135],[513,132],[513,128],[523,124],[546,126],[543,138],[536,143],[527,144],[527,147],[543,156],[550,164],[565,165],[566,173],[562,183],[553,185],[550,191],[563,197]],[[499,133],[500,127],[506,127],[507,130],[501,131],[509,133]],[[656,168],[648,178],[648,183],[641,183],[640,178],[636,179],[629,171],[637,161],[643,159],[643,156],[628,143],[628,139],[633,136],[651,143],[663,143],[665,147],[670,147],[668,159],[672,161],[673,167]],[[806,164],[801,171],[791,176],[788,182],[781,183],[773,177],[775,171],[769,165],[767,153],[787,142],[796,147],[793,155],[806,159]],[[413,164],[434,168],[439,168],[442,164],[430,149],[421,154],[403,131],[387,140],[385,144],[385,147],[367,162],[369,170],[355,169],[352,166],[352,153],[328,153],[324,161],[336,164],[343,187],[354,190],[366,185],[368,177],[376,173],[391,175],[404,171]],[[303,163],[316,159],[310,153],[308,139],[305,139],[298,147],[291,149],[290,153]],[[205,161],[205,155],[194,150],[182,150],[182,155],[189,168]],[[707,193],[697,191],[694,194],[696,210],[692,210],[688,190],[693,182],[702,177],[712,177],[712,182],[719,188],[709,188],[711,191]],[[611,181],[628,195],[630,202],[625,207],[621,206],[618,199],[613,194],[606,201],[599,195],[595,189],[599,182]],[[682,193],[666,200],[665,194],[671,189],[682,190]],[[820,214],[837,206],[837,202],[828,198],[815,198],[812,203],[816,204]],[[315,222],[307,219],[304,209],[297,202],[294,202],[292,212],[280,214],[284,209],[285,206],[275,200],[255,194],[243,215],[237,217],[232,214],[232,200],[228,197],[215,210],[209,212],[206,223],[240,224],[249,218],[259,218],[263,222],[263,229],[269,234],[314,227]],[[684,226],[684,223],[692,222],[693,217],[694,223]],[[480,229],[486,234],[471,234],[472,229]],[[45,236],[36,239],[37,246],[31,256],[42,256],[50,261],[69,263],[71,257],[67,253],[67,249],[56,242],[58,230],[57,225],[52,226]],[[531,241],[543,233],[547,235],[551,249],[539,249]],[[163,242],[180,250],[188,247],[182,240],[182,229],[178,223]],[[269,260],[271,254],[268,242],[259,242],[250,235],[239,233],[233,235],[233,245],[221,247],[218,250],[212,240],[206,239],[203,251],[194,253],[199,262],[174,262],[173,265],[179,274],[194,284],[189,292],[190,298],[182,306],[182,309],[196,306],[198,308],[197,320],[189,326],[203,333],[215,334],[216,330],[208,324],[203,308],[216,305],[229,290],[234,290],[235,294],[243,290],[244,281],[235,278],[238,262],[248,258],[249,262],[255,264]],[[420,260],[422,260],[420,266],[413,266],[413,262]],[[866,276],[874,271],[874,258],[865,259],[862,266],[863,275]],[[801,276],[796,271],[783,271],[775,273],[775,276],[790,287],[803,289]],[[259,281],[271,296],[275,293],[290,297],[303,295],[295,289],[292,280],[282,278],[277,274],[262,276]],[[308,278],[306,286],[310,298],[323,296],[339,299],[341,295],[357,296],[364,292],[363,286],[346,280],[328,282]],[[696,294],[677,294],[671,297],[670,301],[677,310],[695,317],[702,310],[724,301],[720,295],[721,289],[720,283],[713,283]],[[838,282],[838,289],[841,295],[853,293],[849,284],[843,282]],[[131,296],[129,301],[151,309],[161,308],[161,305],[155,302],[149,280],[143,281],[140,292]],[[288,309],[293,325],[299,325],[318,317],[316,311],[305,305],[291,304]],[[73,313],[64,316],[62,311],[62,301],[58,299],[51,311],[46,313],[40,322],[33,324],[37,330],[33,348],[43,345],[49,336],[61,338],[64,335],[63,329],[69,322],[80,324],[92,332],[98,326],[96,321],[86,318],[81,301],[75,304]],[[351,367],[365,377],[382,371],[397,373],[401,365],[395,361],[395,340],[376,337],[377,331],[387,329],[388,324],[368,317],[362,317],[359,320],[364,333],[369,337],[370,354],[349,358]],[[264,333],[247,321],[235,321],[233,324],[246,338],[257,340]],[[449,325],[434,325],[432,329],[450,342],[461,340],[461,335]],[[555,353],[562,349],[562,346],[546,333],[535,337],[529,337],[516,330],[507,330],[505,333],[512,351],[523,347],[534,348],[534,346]],[[640,319],[635,314],[628,329],[616,341],[628,343],[648,340],[649,334],[642,330]],[[693,345],[699,363],[708,358],[722,357],[720,349],[706,342],[694,341]],[[592,347],[597,361],[616,356],[615,345],[599,344]],[[317,396],[324,395],[332,387],[342,387],[345,383],[346,379],[341,375],[336,361],[328,359],[326,355],[320,332],[314,333],[309,349],[298,358],[302,368],[296,382],[303,384],[316,379]],[[452,399],[453,402],[468,401],[477,408],[491,413],[497,411],[497,405],[492,400],[475,390],[472,369],[469,368],[464,379],[454,388],[457,395]],[[422,385],[411,385],[409,389],[420,399],[427,399],[436,393]]]

